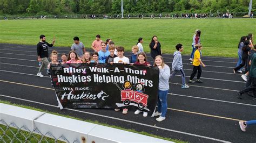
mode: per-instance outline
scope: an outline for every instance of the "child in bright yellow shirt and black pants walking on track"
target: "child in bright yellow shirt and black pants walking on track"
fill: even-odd
[[[205,67],[204,63],[201,61],[201,49],[203,48],[203,46],[201,44],[197,44],[195,45],[196,47],[196,52],[194,52],[194,60],[193,60],[193,71],[192,74],[190,76],[190,80],[188,81],[189,83],[202,83],[203,81],[200,80],[201,77],[201,73],[202,73],[202,69],[201,69],[201,65],[203,67]],[[197,74],[197,80],[193,81],[194,76]]]

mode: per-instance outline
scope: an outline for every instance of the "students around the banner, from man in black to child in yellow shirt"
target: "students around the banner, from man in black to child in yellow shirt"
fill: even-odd
[[[198,31],[196,31],[198,33]],[[200,44],[200,33],[195,34],[195,38],[193,42],[193,72],[191,74],[190,80],[188,82],[194,83],[202,81],[200,80],[201,75],[201,67],[200,65],[204,65],[204,63],[200,60],[201,49],[203,48]],[[111,39],[107,39],[106,42],[100,40],[100,35],[96,35],[96,40],[92,42],[91,48],[94,52],[90,53],[85,50],[84,44],[79,41],[78,37],[74,37],[74,43],[71,46],[71,51],[68,55],[63,53],[61,55],[61,59],[58,60],[57,51],[52,51],[50,55],[51,62],[48,61],[48,46],[52,47],[55,44],[55,38],[52,41],[52,44],[46,42],[45,35],[40,35],[41,40],[37,44],[37,55],[38,61],[42,62],[41,67],[38,70],[37,76],[43,77],[42,69],[47,66],[48,70],[50,69],[50,64],[64,64],[64,63],[123,63],[123,64],[131,64],[131,65],[144,65],[151,66],[149,62],[147,62],[147,56],[143,50],[143,38],[139,38],[137,45],[132,47],[132,55],[131,58],[127,58],[124,56],[124,47],[115,46],[114,42]],[[167,111],[167,94],[169,92],[169,78],[174,77],[177,73],[181,75],[182,85],[181,88],[189,88],[185,81],[185,73],[183,70],[183,62],[181,58],[181,52],[183,52],[183,45],[177,44],[177,51],[174,52],[174,59],[172,63],[172,73],[170,71],[170,67],[164,63],[164,59],[161,56],[161,45],[157,39],[157,36],[154,35],[149,44],[151,49],[151,57],[154,59],[153,66],[157,66],[159,68],[159,88],[158,88],[158,111],[154,113],[154,116],[159,116],[156,120],[163,121],[165,120],[165,115]],[[197,74],[197,80],[193,81],[193,77]],[[48,72],[50,73],[50,72]],[[60,106],[60,104],[59,104]],[[120,111],[120,109],[114,109],[115,111]],[[123,114],[127,114],[128,109],[123,109]],[[135,114],[139,114],[140,110],[135,111]],[[143,116],[147,117],[147,112],[143,112]]]

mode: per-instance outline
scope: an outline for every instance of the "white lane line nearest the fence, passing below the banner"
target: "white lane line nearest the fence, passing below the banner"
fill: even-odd
[[[46,103],[41,103],[41,102],[35,102],[35,101],[27,100],[27,99],[21,99],[21,98],[6,96],[6,95],[0,95],[0,96],[2,96],[2,97],[7,97],[7,98],[12,98],[12,99],[18,99],[18,100],[21,100],[21,101],[26,101],[26,102],[36,103],[36,104],[42,104],[42,105],[46,105],[46,106],[51,106],[51,107],[57,108],[57,106],[51,105],[51,104],[46,104]],[[193,137],[199,137],[199,138],[204,138],[204,139],[208,139],[208,140],[214,140],[214,141],[220,141],[220,142],[230,142],[230,141],[226,141],[226,140],[220,140],[220,139],[205,137],[205,136],[198,135],[198,134],[192,134],[192,133],[181,132],[181,131],[177,131],[177,130],[171,130],[171,129],[169,129],[169,128],[163,128],[163,127],[148,125],[148,124],[144,124],[144,123],[138,123],[138,122],[136,122],[136,121],[125,120],[125,119],[120,119],[120,118],[116,118],[116,117],[110,117],[110,116],[100,115],[100,114],[91,113],[91,112],[79,111],[79,110],[68,109],[68,108],[64,108],[64,109],[65,109],[65,110],[70,110],[70,111],[75,111],[75,112],[80,112],[80,113],[86,113],[86,114],[93,115],[93,116],[99,116],[99,117],[104,117],[104,118],[109,118],[109,119],[114,119],[114,120],[119,120],[119,121],[125,121],[125,122],[127,122],[127,123],[142,125],[142,126],[146,126],[146,127],[152,127],[152,128],[156,128],[156,129],[158,129],[158,130],[165,130],[165,131],[176,132],[176,133],[180,133],[180,134],[191,135],[191,136],[193,136]]]

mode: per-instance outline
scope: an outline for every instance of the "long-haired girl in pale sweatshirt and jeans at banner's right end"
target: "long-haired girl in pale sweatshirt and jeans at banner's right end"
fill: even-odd
[[[169,92],[169,77],[171,74],[170,67],[164,63],[162,56],[158,55],[154,58],[154,66],[159,68],[159,87],[158,87],[158,111],[154,116],[159,116],[156,120],[165,120],[167,112],[167,95]]]

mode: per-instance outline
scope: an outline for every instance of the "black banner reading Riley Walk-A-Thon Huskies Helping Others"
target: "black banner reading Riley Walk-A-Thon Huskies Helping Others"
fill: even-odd
[[[157,67],[80,63],[54,65],[56,95],[68,108],[131,108],[153,112],[157,103]]]

